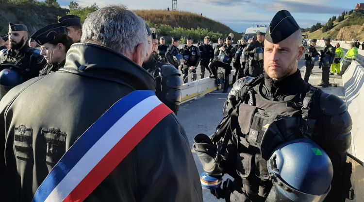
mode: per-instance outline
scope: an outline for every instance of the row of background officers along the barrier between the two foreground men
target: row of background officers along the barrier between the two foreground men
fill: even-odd
[[[180,37],[172,37],[171,45],[165,45],[165,37],[160,37],[157,58],[172,64],[182,72],[183,83],[197,79],[196,69],[200,65],[200,78],[205,78],[205,70],[210,78],[216,78],[218,68],[224,69],[224,90],[227,93],[229,75],[235,68],[233,83],[244,77],[256,77],[263,73],[263,50],[265,34],[258,32],[257,38],[242,38],[236,46],[232,46],[232,37],[218,38],[218,44],[213,46],[209,36],[204,37],[198,47],[193,45],[191,36],[186,37],[187,44],[179,49]]]

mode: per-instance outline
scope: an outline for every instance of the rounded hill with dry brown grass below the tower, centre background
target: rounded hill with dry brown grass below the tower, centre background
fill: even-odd
[[[134,12],[145,20],[155,24],[165,24],[172,28],[202,28],[211,32],[221,33],[225,37],[233,33],[235,41],[241,38],[241,34],[232,31],[232,29],[220,22],[207,17],[200,16],[191,12],[184,11],[167,11],[167,10],[134,10]]]

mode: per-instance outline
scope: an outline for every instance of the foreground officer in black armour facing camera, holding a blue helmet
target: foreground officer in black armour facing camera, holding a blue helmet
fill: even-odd
[[[265,74],[235,82],[215,134],[195,137],[193,148],[212,177],[201,182],[217,198],[339,200],[352,122],[340,98],[301,78],[301,36],[292,15],[279,11],[265,35]],[[216,188],[225,173],[234,180]]]

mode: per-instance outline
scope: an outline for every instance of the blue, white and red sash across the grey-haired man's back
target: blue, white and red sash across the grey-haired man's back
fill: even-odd
[[[63,155],[33,202],[82,202],[171,112],[150,90],[120,99]]]

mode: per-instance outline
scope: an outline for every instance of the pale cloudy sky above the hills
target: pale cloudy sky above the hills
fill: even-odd
[[[68,6],[71,0],[58,0]],[[172,9],[172,0],[74,0],[81,6],[96,2],[99,7],[124,4],[129,9]],[[269,25],[277,11],[288,10],[302,28],[316,22],[326,23],[356,6],[356,0],[177,0],[177,10],[189,11],[228,25],[235,32],[245,32],[257,24]]]

